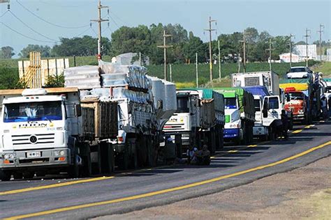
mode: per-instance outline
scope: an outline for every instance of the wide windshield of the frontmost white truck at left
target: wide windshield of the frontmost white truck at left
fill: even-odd
[[[22,102],[4,105],[4,123],[62,120],[61,102]]]

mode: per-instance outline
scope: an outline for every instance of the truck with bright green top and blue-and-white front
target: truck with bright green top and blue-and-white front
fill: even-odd
[[[255,108],[253,95],[243,88],[213,88],[224,95],[225,118],[223,139],[236,144],[253,140]]]

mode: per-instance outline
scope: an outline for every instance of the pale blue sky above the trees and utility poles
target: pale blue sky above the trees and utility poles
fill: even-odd
[[[2,0],[3,1],[3,0]],[[0,0],[1,2],[1,0]],[[331,0],[102,0],[103,36],[110,38],[120,26],[180,24],[204,42],[209,36],[209,16],[216,19],[213,38],[222,33],[242,32],[247,27],[267,31],[272,36],[295,35],[295,42],[331,40]],[[14,48],[15,56],[29,44],[59,44],[59,38],[97,36],[98,0],[10,0],[0,3],[0,47]],[[205,32],[205,33],[204,33]],[[23,35],[23,36],[22,36]]]

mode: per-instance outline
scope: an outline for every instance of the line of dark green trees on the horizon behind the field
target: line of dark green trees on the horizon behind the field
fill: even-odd
[[[168,49],[169,63],[193,63],[209,61],[209,42],[203,42],[198,36],[186,31],[180,24],[152,24],[150,26],[139,25],[136,27],[122,26],[114,31],[111,40],[102,38],[102,54],[117,56],[127,52],[140,52],[142,58],[149,57],[152,64],[163,63],[163,31],[172,35],[167,39],[167,44],[173,47]],[[272,40],[272,59],[279,59],[279,54],[289,52],[288,36],[271,36],[267,31],[258,32],[257,29],[249,27],[247,33],[247,60],[251,62],[267,61],[269,58],[269,40]],[[220,54],[223,63],[234,63],[237,58],[242,57],[243,33],[235,32],[221,34],[212,41],[213,58],[218,55],[218,42],[220,42]],[[323,42],[326,44],[326,42]],[[29,52],[39,51],[42,57],[59,56],[95,56],[97,54],[97,39],[91,36],[77,38],[60,38],[60,42],[53,47],[43,45],[28,45],[20,54],[21,58],[28,58]],[[11,58],[14,55],[12,47],[2,47],[0,58]]]

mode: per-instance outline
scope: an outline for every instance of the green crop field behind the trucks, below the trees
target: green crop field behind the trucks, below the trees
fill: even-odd
[[[68,57],[70,66],[74,65],[73,57]],[[110,61],[110,56],[103,56],[104,61]],[[24,60],[28,60],[27,58]],[[1,59],[0,60],[0,79],[18,78],[18,65],[17,61],[22,59]],[[77,56],[75,65],[97,65],[96,57],[94,56]],[[324,64],[324,63],[323,63]],[[293,65],[305,65],[305,63],[293,63]],[[316,62],[309,62],[309,66],[314,65],[314,70],[321,72],[331,72],[331,63],[328,65],[316,65]],[[6,67],[6,70],[4,68]],[[163,65],[148,65],[149,75],[154,77],[163,78]],[[286,71],[290,68],[289,63],[272,63],[272,69],[283,77]],[[269,63],[247,63],[247,72],[269,70]],[[242,65],[240,66],[240,72],[243,71]],[[168,68],[168,80],[170,80]],[[230,76],[231,73],[238,72],[237,63],[222,63],[221,64],[221,77],[222,83],[216,81],[214,83],[228,86],[230,81],[226,77]],[[10,74],[10,75],[8,75]],[[11,77],[10,77],[11,76]],[[213,67],[213,78],[219,78],[219,66],[214,65]],[[224,79],[225,78],[225,79]],[[195,64],[174,64],[172,65],[172,81],[176,83],[177,88],[193,87],[196,86],[196,65]],[[209,81],[209,64],[200,63],[198,64],[198,81],[199,86],[207,84]],[[6,83],[3,80],[0,81],[1,88],[7,88]],[[10,84],[11,85],[11,84]]]

